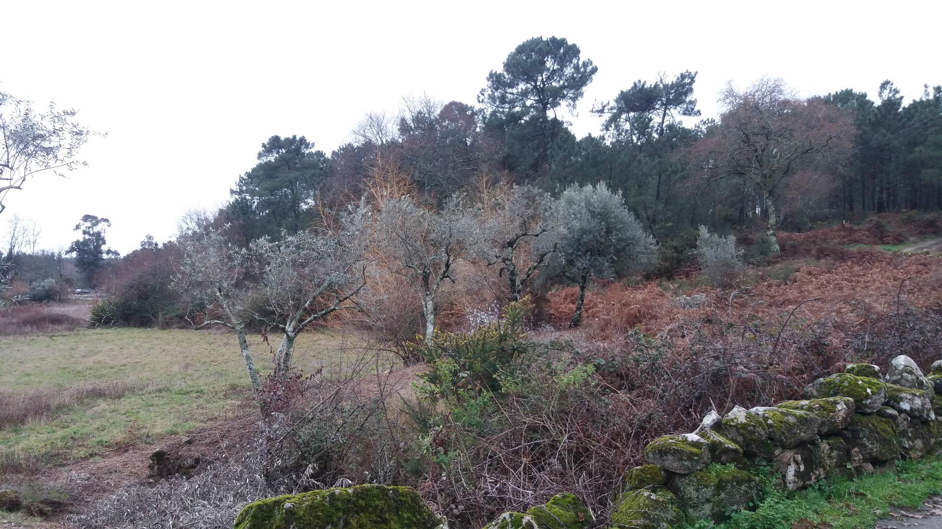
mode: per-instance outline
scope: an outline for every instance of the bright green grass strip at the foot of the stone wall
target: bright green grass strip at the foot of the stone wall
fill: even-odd
[[[858,479],[836,478],[792,493],[771,489],[767,478],[765,500],[755,511],[733,513],[730,521],[685,523],[687,529],[790,529],[796,521],[810,521],[834,529],[873,527],[893,507],[918,508],[942,491],[942,461],[907,460],[898,472],[867,474]]]

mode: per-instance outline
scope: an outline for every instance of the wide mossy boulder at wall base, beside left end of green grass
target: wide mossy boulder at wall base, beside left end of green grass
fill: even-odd
[[[761,490],[753,474],[716,464],[705,471],[674,476],[668,487],[689,518],[717,522],[728,519],[730,511],[755,505]]]

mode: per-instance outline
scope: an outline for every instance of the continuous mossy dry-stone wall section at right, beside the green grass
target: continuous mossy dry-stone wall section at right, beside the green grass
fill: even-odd
[[[682,515],[726,520],[761,500],[760,465],[781,474],[783,489],[796,490],[923,457],[942,441],[940,395],[942,361],[924,377],[899,356],[885,376],[875,365],[851,364],[819,378],[804,388],[804,400],[712,411],[692,433],[645,447],[649,464],[625,473],[612,527],[666,529]]]

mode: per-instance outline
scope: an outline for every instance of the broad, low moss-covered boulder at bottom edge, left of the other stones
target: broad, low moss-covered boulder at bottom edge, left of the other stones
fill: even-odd
[[[358,485],[267,498],[246,505],[234,529],[436,529],[444,520],[414,489]]]

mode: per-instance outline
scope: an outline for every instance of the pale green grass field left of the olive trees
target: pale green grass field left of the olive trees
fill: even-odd
[[[257,336],[251,345],[266,371],[268,345]],[[341,374],[353,345],[333,332],[304,334],[295,365]],[[183,434],[251,397],[230,333],[79,329],[0,337],[0,407],[31,410],[23,420],[0,416],[0,470],[24,458],[57,464]]]

